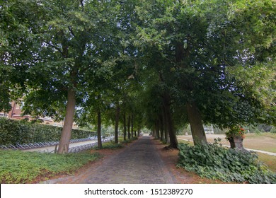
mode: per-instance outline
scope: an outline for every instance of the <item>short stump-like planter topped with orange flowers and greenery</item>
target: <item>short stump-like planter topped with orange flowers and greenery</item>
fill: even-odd
[[[243,139],[245,139],[245,131],[241,126],[233,126],[226,132],[226,139],[230,142],[231,148],[246,151],[243,148]]]

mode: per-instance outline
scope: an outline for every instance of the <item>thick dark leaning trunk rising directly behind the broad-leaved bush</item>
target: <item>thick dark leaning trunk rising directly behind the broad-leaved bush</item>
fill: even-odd
[[[197,109],[197,105],[195,103],[187,103],[186,109],[194,143],[207,144],[206,134],[203,128],[200,111]]]

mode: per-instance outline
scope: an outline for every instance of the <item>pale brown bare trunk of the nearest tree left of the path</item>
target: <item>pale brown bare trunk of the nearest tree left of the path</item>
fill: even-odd
[[[57,153],[68,153],[70,139],[71,139],[71,132],[74,122],[74,112],[75,112],[75,105],[76,105],[76,93],[74,90],[69,90],[67,93],[67,107],[66,107],[66,115],[64,120],[64,126],[62,129],[62,136],[59,141],[59,148]]]

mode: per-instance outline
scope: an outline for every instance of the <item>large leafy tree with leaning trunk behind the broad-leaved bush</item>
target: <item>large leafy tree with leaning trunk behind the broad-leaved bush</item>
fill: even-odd
[[[175,81],[169,87],[177,90],[175,102],[186,107],[183,114],[190,122],[195,144],[207,142],[203,122],[227,127],[263,117],[259,112],[267,108],[252,97],[253,92],[247,95],[238,88],[246,79],[234,80],[230,70],[241,64],[243,69],[258,67],[259,57],[272,64],[273,4],[172,0],[143,1],[137,6],[142,21],[137,28],[139,45],[154,47],[162,64],[171,63],[163,74]],[[258,40],[252,42],[253,37]],[[247,112],[243,112],[245,108]],[[242,116],[237,119],[236,115]]]

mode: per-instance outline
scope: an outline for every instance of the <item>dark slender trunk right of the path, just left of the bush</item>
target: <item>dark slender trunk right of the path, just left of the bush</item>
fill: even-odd
[[[168,135],[170,137],[170,147],[171,148],[177,148],[178,146],[178,140],[176,138],[176,132],[173,126],[173,119],[171,117],[171,109],[170,109],[170,96],[168,93],[164,93],[163,95],[163,106],[164,106],[164,112],[167,119],[167,126],[168,126]]]

